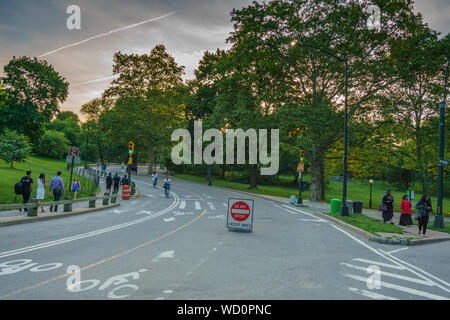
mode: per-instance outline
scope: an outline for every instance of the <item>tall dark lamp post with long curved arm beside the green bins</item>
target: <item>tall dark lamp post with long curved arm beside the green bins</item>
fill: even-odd
[[[344,62],[345,64],[345,120],[344,120],[344,174],[343,174],[343,178],[344,178],[344,183],[342,186],[342,204],[341,204],[341,208],[339,211],[339,215],[340,216],[348,216],[348,206],[347,206],[347,123],[348,123],[348,116],[347,116],[347,96],[348,96],[348,59],[347,56],[345,56],[344,58],[341,58],[333,53],[331,53],[328,50],[325,50],[323,48],[311,45],[311,44],[307,44],[307,43],[302,43],[300,41],[294,40],[291,42],[291,46],[295,46],[295,45],[299,45],[299,46],[305,46],[305,47],[310,47],[310,48],[314,48],[317,50],[322,51],[323,53],[326,53],[334,58],[336,58],[337,60]]]

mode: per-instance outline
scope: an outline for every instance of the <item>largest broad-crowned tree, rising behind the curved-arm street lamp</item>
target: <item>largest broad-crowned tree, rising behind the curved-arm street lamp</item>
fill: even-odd
[[[299,40],[348,57],[349,119],[370,121],[376,94],[398,80],[387,59],[389,40],[402,37],[405,26],[417,19],[409,1],[386,0],[380,4],[382,30],[369,30],[369,4],[275,0],[232,12],[234,31],[228,41],[239,57],[237,72],[254,75],[247,88],[258,90],[259,105],[275,114],[280,137],[293,148],[300,143],[306,148],[311,200],[325,198],[325,155],[342,139],[344,64],[290,43]]]

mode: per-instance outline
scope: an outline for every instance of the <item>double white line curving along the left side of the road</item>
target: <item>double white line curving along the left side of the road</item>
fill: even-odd
[[[167,207],[166,209],[163,209],[163,210],[161,210],[158,213],[155,213],[153,215],[150,215],[150,216],[147,216],[147,217],[144,217],[144,218],[140,218],[140,219],[136,219],[136,220],[132,220],[132,221],[129,221],[129,222],[117,224],[117,225],[114,225],[112,227],[103,228],[103,229],[97,229],[97,230],[94,230],[94,231],[91,231],[91,232],[75,235],[75,236],[72,236],[72,237],[67,237],[67,238],[62,238],[62,239],[58,239],[58,240],[54,240],[54,241],[39,243],[39,244],[36,244],[36,245],[32,245],[32,246],[28,246],[28,247],[24,247],[24,248],[20,248],[20,249],[0,252],[0,259],[1,258],[5,258],[5,257],[9,257],[9,256],[22,254],[22,253],[25,253],[25,252],[30,252],[30,251],[35,251],[35,250],[47,248],[47,247],[56,246],[56,245],[59,245],[59,244],[63,244],[63,243],[67,243],[67,242],[71,242],[71,241],[75,241],[75,240],[80,240],[80,239],[84,239],[84,238],[88,238],[88,237],[93,237],[93,236],[96,236],[96,235],[99,235],[99,234],[102,234],[102,233],[106,233],[106,232],[122,229],[122,228],[129,227],[129,226],[141,223],[141,222],[152,220],[152,219],[154,219],[156,217],[159,217],[160,215],[163,215],[163,214],[171,211],[172,209],[174,209],[178,205],[179,198],[178,198],[178,196],[175,193],[174,193],[174,197],[175,197],[175,201],[169,207]]]

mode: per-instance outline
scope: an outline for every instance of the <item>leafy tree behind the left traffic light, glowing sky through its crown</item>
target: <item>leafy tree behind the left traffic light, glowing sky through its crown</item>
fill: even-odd
[[[115,101],[118,108],[115,112],[127,110],[127,114],[116,112],[118,119],[135,115],[133,127],[141,127],[140,134],[146,136],[149,172],[153,168],[154,143],[170,137],[167,129],[174,129],[185,118],[184,100],[180,99],[184,90],[181,89],[183,70],[184,67],[178,66],[166,52],[164,45],[157,45],[149,55],[121,52],[114,55],[113,73],[119,77],[105,90],[103,98]],[[127,126],[130,127],[129,122],[122,122],[119,129],[125,130]]]

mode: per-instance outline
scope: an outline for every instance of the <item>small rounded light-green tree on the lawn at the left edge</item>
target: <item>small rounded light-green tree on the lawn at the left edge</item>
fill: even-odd
[[[12,130],[5,130],[0,136],[0,159],[13,168],[14,162],[24,161],[31,153],[31,144],[27,136]]]

